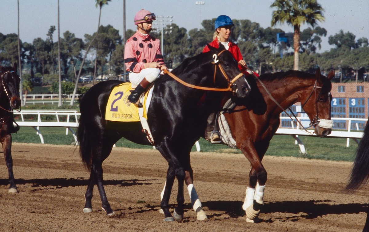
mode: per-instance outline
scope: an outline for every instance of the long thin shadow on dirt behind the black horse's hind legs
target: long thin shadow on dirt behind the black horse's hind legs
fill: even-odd
[[[135,185],[152,185],[151,181],[157,181],[158,179],[131,179],[131,180],[104,180],[104,186],[107,185],[121,185],[124,187]],[[63,187],[75,187],[75,186],[87,186],[89,179],[83,177],[77,177],[76,179],[65,178],[53,178],[53,179],[15,179],[15,184],[18,187],[21,185],[32,184],[31,187],[41,186],[55,186],[59,188]],[[1,185],[9,185],[8,179],[0,179]]]

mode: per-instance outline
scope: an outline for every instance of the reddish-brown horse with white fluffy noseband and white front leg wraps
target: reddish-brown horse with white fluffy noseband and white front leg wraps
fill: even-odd
[[[235,146],[231,147],[240,149],[251,164],[249,185],[242,206],[246,221],[258,222],[267,181],[262,159],[280,125],[280,113],[300,102],[310,118],[310,125],[315,128],[315,134],[323,138],[331,133],[330,91],[333,77],[334,71],[326,77],[321,75],[319,68],[315,74],[287,71],[263,74],[258,78],[248,75],[246,79],[251,93],[247,99],[238,99],[237,106],[230,113],[223,113],[234,139]],[[366,178],[368,176],[369,168]]]

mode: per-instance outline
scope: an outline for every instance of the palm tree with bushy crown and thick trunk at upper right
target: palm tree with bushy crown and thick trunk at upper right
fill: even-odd
[[[294,70],[299,70],[300,26],[307,22],[314,28],[317,21],[325,20],[324,10],[317,0],[275,0],[270,7],[277,8],[272,13],[272,26],[277,22],[293,26]]]

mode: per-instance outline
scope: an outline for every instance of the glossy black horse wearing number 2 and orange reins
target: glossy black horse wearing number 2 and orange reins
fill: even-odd
[[[156,149],[169,164],[165,193],[161,202],[165,221],[174,221],[169,213],[169,197],[175,178],[179,185],[178,206],[173,216],[177,221],[183,219],[183,182],[185,181],[186,185],[193,182],[190,151],[194,143],[204,136],[208,116],[217,111],[220,106],[220,102],[214,104],[213,100],[208,99],[208,96],[213,96],[214,93],[207,94],[209,90],[206,89],[210,89],[211,92],[223,90],[216,93],[219,96],[225,96],[225,94],[230,95],[229,92],[224,91],[224,87],[228,86],[238,98],[246,97],[250,91],[245,76],[240,73],[232,54],[224,47],[219,49],[210,47],[210,49],[208,53],[185,59],[179,67],[175,68],[172,74],[179,80],[176,81],[166,74],[154,86],[148,109],[148,125],[151,128]],[[189,88],[184,82],[192,87]],[[85,193],[86,204],[83,209],[85,213],[92,212],[92,190],[96,183],[103,210],[107,215],[114,214],[104,191],[101,167],[113,145],[122,137],[138,144],[151,145],[146,135],[141,132],[142,126],[139,122],[111,122],[104,118],[109,94],[114,86],[120,83],[122,82],[100,82],[90,88],[80,102],[81,116],[77,138],[82,161],[90,170],[90,183]],[[192,189],[192,192],[194,193],[193,206],[196,207],[195,210],[200,211],[202,209],[201,205],[196,203],[196,191]]]

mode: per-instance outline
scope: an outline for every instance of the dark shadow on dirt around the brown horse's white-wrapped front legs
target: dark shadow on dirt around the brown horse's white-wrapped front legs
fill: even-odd
[[[242,201],[206,201],[203,203],[203,206],[208,207],[209,210],[225,211],[225,214],[230,215],[231,218],[238,218],[245,215],[245,211],[242,210],[242,204]],[[328,214],[358,214],[367,210],[368,204],[334,204],[334,201],[331,200],[281,201],[265,202],[261,208],[261,214],[296,214],[292,217],[284,217],[283,219],[286,219],[286,221],[297,221],[299,219],[313,219]]]

